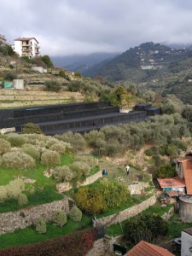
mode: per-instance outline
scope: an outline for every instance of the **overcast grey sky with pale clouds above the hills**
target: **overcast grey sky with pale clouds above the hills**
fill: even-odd
[[[34,37],[41,55],[192,44],[192,0],[0,0],[0,34]]]

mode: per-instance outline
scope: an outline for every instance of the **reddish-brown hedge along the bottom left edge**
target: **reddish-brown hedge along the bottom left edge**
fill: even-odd
[[[75,231],[67,236],[43,241],[25,247],[10,247],[0,250],[1,256],[84,256],[93,247],[98,230]]]

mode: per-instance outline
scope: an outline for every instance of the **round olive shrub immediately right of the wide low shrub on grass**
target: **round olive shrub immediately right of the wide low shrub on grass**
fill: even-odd
[[[41,155],[41,164],[43,166],[60,165],[60,154],[49,149],[44,150],[44,152]]]

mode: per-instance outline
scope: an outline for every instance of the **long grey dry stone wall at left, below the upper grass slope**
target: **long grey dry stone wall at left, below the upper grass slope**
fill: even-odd
[[[12,233],[17,229],[25,229],[39,217],[50,221],[55,211],[63,210],[69,212],[68,200],[69,198],[66,197],[61,201],[53,201],[37,207],[27,207],[16,212],[0,213],[0,235]]]

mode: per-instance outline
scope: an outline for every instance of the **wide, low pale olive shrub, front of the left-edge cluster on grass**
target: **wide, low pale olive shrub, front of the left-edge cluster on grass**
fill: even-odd
[[[35,166],[35,160],[32,156],[25,154],[24,152],[8,152],[3,154],[2,165],[9,168],[25,170]]]

